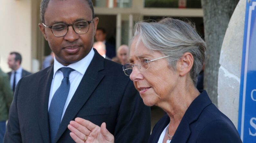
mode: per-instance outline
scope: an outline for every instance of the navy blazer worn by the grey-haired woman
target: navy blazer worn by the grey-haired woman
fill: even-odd
[[[166,114],[156,123],[148,143],[157,143],[169,123],[170,117]],[[234,124],[217,109],[206,91],[202,91],[185,112],[171,143],[242,143],[242,141]]]

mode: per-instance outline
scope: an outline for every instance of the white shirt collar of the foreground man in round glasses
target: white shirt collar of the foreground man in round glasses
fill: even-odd
[[[94,56],[94,53],[95,52],[93,51],[93,48],[91,48],[91,51],[88,53],[87,56],[85,56],[83,59],[81,59],[75,63],[68,65],[67,67],[72,68],[72,69],[78,71],[80,74],[84,75],[85,71],[87,70],[88,66],[90,65],[90,62]],[[56,58],[54,57],[53,79],[55,77],[56,72],[62,67],[65,67],[65,66],[63,66],[60,62],[58,62],[56,60]]]

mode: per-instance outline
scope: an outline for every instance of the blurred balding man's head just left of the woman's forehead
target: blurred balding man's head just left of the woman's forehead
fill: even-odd
[[[128,45],[121,45],[117,50],[117,57],[122,65],[128,63]]]

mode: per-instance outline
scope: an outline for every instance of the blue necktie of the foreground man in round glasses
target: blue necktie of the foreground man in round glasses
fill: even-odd
[[[60,87],[57,89],[52,97],[52,101],[48,111],[52,143],[61,123],[63,108],[66,103],[70,89],[69,75],[71,71],[73,71],[72,68],[60,68],[59,70],[62,71],[63,79]]]

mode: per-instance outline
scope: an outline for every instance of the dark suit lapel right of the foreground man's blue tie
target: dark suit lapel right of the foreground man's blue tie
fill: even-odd
[[[66,109],[54,142],[57,142],[62,136],[63,132],[67,129],[69,122],[75,118],[81,107],[83,107],[92,92],[105,76],[100,72],[103,69],[104,58],[95,51],[94,57]]]

